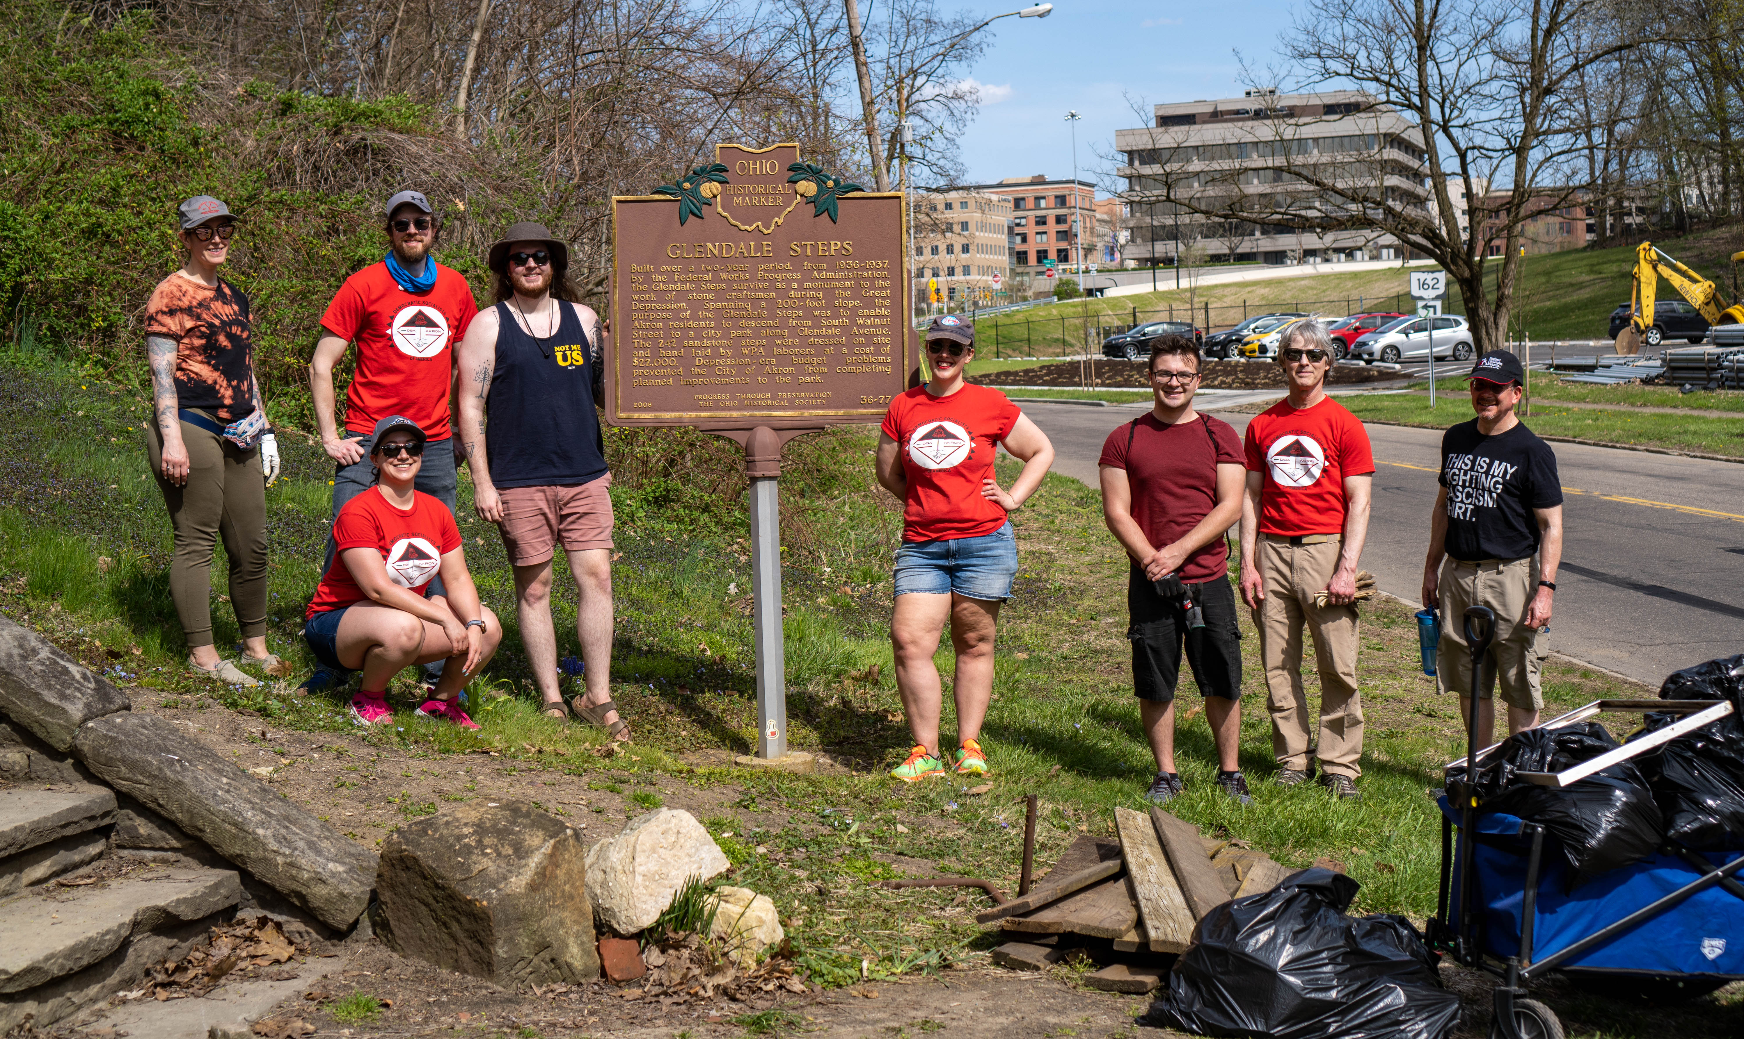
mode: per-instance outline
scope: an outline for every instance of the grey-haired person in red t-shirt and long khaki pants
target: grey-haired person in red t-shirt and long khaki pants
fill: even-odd
[[[1320,669],[1320,783],[1357,798],[1362,699],[1357,696],[1357,560],[1369,537],[1374,458],[1362,422],[1325,396],[1332,338],[1315,319],[1284,333],[1289,396],[1247,424],[1242,600],[1254,610],[1266,668],[1277,783],[1313,776],[1303,626]],[[1325,593],[1325,603],[1317,603]]]

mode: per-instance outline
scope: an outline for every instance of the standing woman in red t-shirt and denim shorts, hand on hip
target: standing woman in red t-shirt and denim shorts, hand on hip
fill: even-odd
[[[903,500],[889,633],[896,689],[914,736],[909,760],[889,771],[903,783],[947,771],[987,772],[980,727],[992,699],[994,628],[1017,577],[1017,533],[1008,514],[1041,486],[1053,464],[1053,445],[1017,404],[963,380],[963,368],[975,359],[968,319],[935,317],[926,329],[926,359],[931,382],[889,403],[877,441],[877,481]],[[1010,493],[999,490],[992,471],[1001,445],[1024,462]],[[952,699],[959,741],[949,762],[938,753],[944,690],[933,666],[947,619],[957,654]]]

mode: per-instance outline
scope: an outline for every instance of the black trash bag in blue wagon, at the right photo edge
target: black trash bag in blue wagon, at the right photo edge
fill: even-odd
[[[1638,758],[1666,837],[1695,851],[1744,849],[1744,676],[1732,675],[1741,666],[1744,655],[1721,657],[1666,678],[1660,699],[1727,699],[1732,713]],[[1685,716],[1652,713],[1641,734]]]

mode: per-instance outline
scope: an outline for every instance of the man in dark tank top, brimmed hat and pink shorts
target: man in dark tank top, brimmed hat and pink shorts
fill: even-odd
[[[612,703],[612,474],[595,404],[605,328],[569,288],[569,248],[539,223],[490,246],[497,305],[460,340],[460,438],[473,507],[497,525],[514,567],[521,643],[549,718],[567,718],[551,624],[551,560],[569,556],[581,607],[584,690],[576,716],[628,741]],[[485,434],[485,420],[490,434]],[[565,664],[565,671],[577,675]]]

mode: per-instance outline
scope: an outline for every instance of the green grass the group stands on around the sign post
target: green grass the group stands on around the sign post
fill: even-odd
[[[474,765],[490,765],[528,784],[584,783],[602,798],[586,811],[616,811],[616,818],[687,791],[701,798],[692,804],[712,805],[696,811],[734,863],[731,882],[776,900],[800,962],[825,985],[858,980],[862,961],[877,978],[984,957],[996,933],[973,922],[980,896],[874,884],[919,866],[985,877],[1012,891],[1022,795],[1041,795],[1039,863],[1080,833],[1111,835],[1114,805],[1144,807],[1153,765],[1130,694],[1127,563],[1102,528],[1097,492],[1078,481],[1050,476],[1013,518],[1022,572],[1001,617],[984,730],[992,776],[903,786],[882,776],[907,753],[909,736],[888,642],[888,568],[900,509],[872,481],[875,432],[842,429],[790,445],[781,478],[790,743],[825,751],[848,769],[771,776],[720,767],[729,751],[750,750],[757,723],[743,478],[732,476],[736,448],[726,441],[680,431],[609,434],[619,518],[612,692],[637,741],[602,757],[596,732],[535,713],[502,547],[494,530],[471,518],[466,481],[467,556],[483,598],[509,629],[490,673],[469,689],[483,730],[419,725],[410,718],[412,690],[399,689],[391,694],[401,708],[398,725],[359,734],[345,722],[342,697],[298,699],[290,689],[312,664],[296,633],[326,528],[330,469],[317,448],[286,436],[288,476],[269,492],[276,594],[269,638],[296,673],[256,689],[216,687],[183,666],[167,596],[169,525],[140,446],[143,397],[124,385],[68,382],[56,370],[0,368],[0,382],[10,410],[0,441],[14,460],[0,499],[0,608],[7,615],[106,671],[136,703],[195,706],[211,711],[206,723],[244,713],[274,729],[364,744],[366,753],[345,758],[354,764],[337,786],[356,788],[377,776],[391,786],[426,783],[424,776],[438,774],[466,783]],[[1006,462],[1001,478],[1013,474]],[[218,600],[221,560],[213,572]],[[570,587],[567,577],[558,575],[556,587]],[[574,593],[560,591],[555,600],[560,654],[574,654]],[[218,643],[228,647],[235,629],[221,601],[215,601],[215,619]],[[1235,805],[1214,786],[1210,730],[1191,683],[1182,682],[1177,743],[1188,791],[1172,811],[1291,866],[1339,863],[1362,884],[1355,912],[1416,919],[1434,912],[1439,818],[1432,791],[1441,784],[1439,765],[1460,753],[1461,739],[1454,703],[1420,673],[1416,643],[1411,607],[1366,607],[1364,798],[1338,804],[1317,788],[1268,783],[1275,769],[1266,694],[1254,631],[1243,621],[1240,753],[1256,804]],[[938,662],[949,690],[949,652]],[[1313,699],[1311,664],[1305,682]],[[1554,706],[1639,692],[1563,662],[1550,662],[1545,675]],[[249,741],[253,725],[242,725]],[[945,736],[952,736],[949,718]],[[473,757],[485,751],[494,757]],[[441,797],[464,800],[473,788]],[[389,821],[371,823],[378,830],[352,837],[378,842],[391,819],[438,811],[441,798],[401,791],[391,800],[405,804]],[[1648,1036],[1652,1029],[1608,1034]]]

